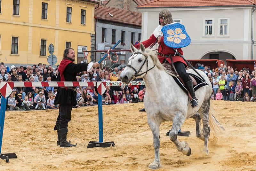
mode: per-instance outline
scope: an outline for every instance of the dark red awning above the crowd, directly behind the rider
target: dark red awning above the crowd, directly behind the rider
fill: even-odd
[[[220,64],[225,65],[225,62],[219,59],[188,59],[188,62],[195,68],[198,68],[198,66],[201,66],[202,64],[204,64],[204,66],[210,65],[211,68],[217,68]]]

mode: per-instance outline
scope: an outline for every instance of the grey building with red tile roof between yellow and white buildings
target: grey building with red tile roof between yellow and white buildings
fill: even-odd
[[[99,6],[95,9],[96,22],[96,49],[104,50],[113,47],[118,40],[116,49],[130,49],[131,43],[141,40],[141,13],[131,12],[109,6]],[[116,55],[110,53],[110,58],[116,61]],[[127,63],[131,52],[117,52],[117,63]],[[95,53],[95,61],[99,61],[104,56],[103,52]],[[101,63],[101,66],[111,66],[114,64],[108,58]]]

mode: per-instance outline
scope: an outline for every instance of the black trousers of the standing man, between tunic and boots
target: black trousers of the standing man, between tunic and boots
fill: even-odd
[[[56,121],[57,128],[67,128],[68,122],[71,120],[71,111],[73,105],[61,105],[59,109],[59,116]]]

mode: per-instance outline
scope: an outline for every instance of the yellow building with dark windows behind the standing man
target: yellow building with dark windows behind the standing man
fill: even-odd
[[[57,64],[70,46],[80,63],[82,48],[94,46],[95,4],[96,0],[0,0],[0,62],[48,64],[52,43]]]

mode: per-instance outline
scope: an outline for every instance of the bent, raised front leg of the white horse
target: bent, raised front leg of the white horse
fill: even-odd
[[[186,143],[185,141],[180,142],[177,139],[178,131],[180,130],[184,121],[185,117],[182,114],[176,115],[175,118],[172,120],[172,129],[170,131],[169,136],[170,140],[176,145],[178,151],[182,152],[182,154],[190,156],[191,149],[188,146],[188,143]]]

